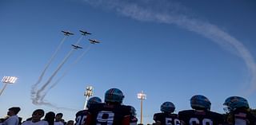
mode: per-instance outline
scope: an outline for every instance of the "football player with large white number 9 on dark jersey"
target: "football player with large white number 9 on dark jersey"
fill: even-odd
[[[122,105],[123,98],[118,88],[107,90],[104,104],[89,107],[86,125],[130,125],[130,107]]]

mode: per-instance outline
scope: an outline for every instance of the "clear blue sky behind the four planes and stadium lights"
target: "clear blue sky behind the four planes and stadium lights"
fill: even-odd
[[[256,108],[255,12],[254,0],[2,0],[0,76],[18,80],[0,96],[0,116],[19,106],[23,119],[36,108],[74,119],[89,85],[102,100],[107,89],[121,89],[138,118],[137,93],[145,92],[143,123],[165,101],[175,113],[190,109],[196,94],[220,113],[228,96]],[[77,43],[83,49],[72,49]]]

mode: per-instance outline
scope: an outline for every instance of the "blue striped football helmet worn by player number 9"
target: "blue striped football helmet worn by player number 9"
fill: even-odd
[[[124,97],[125,96],[122,94],[122,91],[118,88],[110,88],[105,93],[105,102],[122,104]]]

